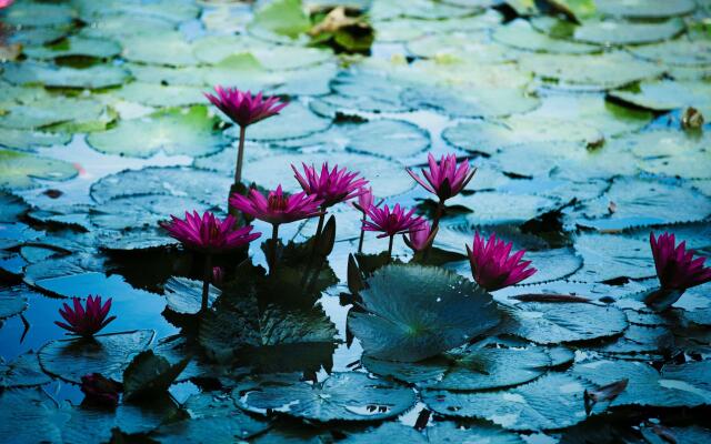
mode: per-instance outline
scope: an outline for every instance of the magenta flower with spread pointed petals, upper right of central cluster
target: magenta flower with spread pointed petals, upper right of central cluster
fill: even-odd
[[[427,191],[435,194],[440,202],[459,194],[477,172],[477,169],[470,171],[467,160],[458,165],[454,154],[442,155],[439,162],[434,160],[432,154],[428,154],[428,162],[430,170],[422,169],[422,175],[427,181],[410,169],[408,169],[408,173]]]

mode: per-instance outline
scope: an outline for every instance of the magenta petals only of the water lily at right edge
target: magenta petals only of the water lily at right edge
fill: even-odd
[[[665,290],[687,290],[711,282],[711,268],[703,266],[705,258],[693,258],[693,251],[687,251],[687,242],[675,245],[673,234],[664,233],[654,239],[649,234],[652,246],[657,276]]]

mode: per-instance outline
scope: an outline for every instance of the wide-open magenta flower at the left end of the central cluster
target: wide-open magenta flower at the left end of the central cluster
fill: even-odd
[[[214,214],[206,211],[202,218],[197,211],[192,214],[186,212],[186,219],[171,215],[172,221],[161,223],[168,230],[171,238],[182,242],[189,249],[207,254],[221,253],[239,249],[259,238],[262,233],[251,233],[252,226],[248,225],[233,230],[236,219],[228,215],[221,221]]]

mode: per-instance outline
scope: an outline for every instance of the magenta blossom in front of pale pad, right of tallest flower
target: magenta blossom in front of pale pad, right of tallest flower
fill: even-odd
[[[322,201],[323,208],[356,198],[368,183],[365,179],[358,176],[358,172],[349,172],[346,168],[339,170],[338,165],[334,165],[329,171],[329,162],[321,165],[320,174],[313,165],[302,163],[302,167],[303,175],[291,165],[294,176],[307,194],[316,195]]]

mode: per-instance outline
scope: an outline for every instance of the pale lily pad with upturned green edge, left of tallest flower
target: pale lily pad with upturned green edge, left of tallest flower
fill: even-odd
[[[229,143],[216,125],[217,119],[208,115],[206,107],[168,109],[142,119],[122,120],[111,130],[90,134],[87,142],[107,154],[149,158],[163,151],[199,157],[218,152]]]

